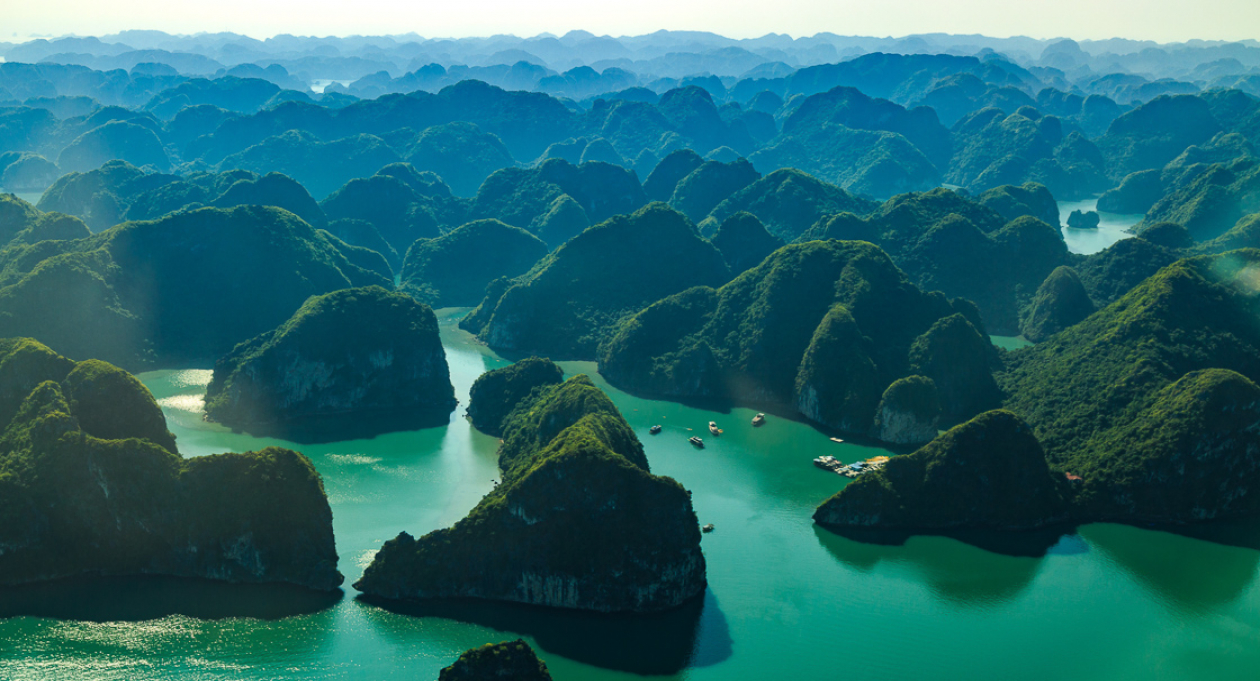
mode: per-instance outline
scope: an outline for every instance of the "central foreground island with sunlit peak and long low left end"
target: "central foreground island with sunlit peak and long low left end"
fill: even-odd
[[[704,591],[688,492],[649,473],[643,445],[590,378],[522,402],[503,443],[503,482],[466,518],[387,541],[355,589],[607,613],[665,610]]]

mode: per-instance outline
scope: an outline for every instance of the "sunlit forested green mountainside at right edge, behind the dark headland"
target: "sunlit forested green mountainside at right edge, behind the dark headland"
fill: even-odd
[[[1086,518],[1193,522],[1254,512],[1260,483],[1260,251],[1179,260],[1007,357],[998,377],[1050,460],[1084,478]]]

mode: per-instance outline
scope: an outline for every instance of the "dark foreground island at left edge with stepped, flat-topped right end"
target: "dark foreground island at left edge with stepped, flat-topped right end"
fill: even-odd
[[[0,340],[0,422],[3,585],[78,574],[341,584],[323,482],[296,451],[181,459],[135,377],[30,339]]]

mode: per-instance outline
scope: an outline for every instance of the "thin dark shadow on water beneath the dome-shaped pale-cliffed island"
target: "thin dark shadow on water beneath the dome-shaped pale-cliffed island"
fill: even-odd
[[[370,440],[388,433],[441,428],[451,422],[454,410],[344,414],[319,416],[286,424],[253,425],[232,429],[256,438],[276,438],[301,445],[320,445],[348,440]]]

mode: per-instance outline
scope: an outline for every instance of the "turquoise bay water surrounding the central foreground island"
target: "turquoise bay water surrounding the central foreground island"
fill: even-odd
[[[456,314],[441,313],[442,334],[466,405],[471,381],[504,362],[455,329]],[[285,444],[203,422],[205,372],[141,378],[188,457]],[[1257,676],[1260,551],[1116,525],[1052,538],[1041,557],[945,537],[862,544],[810,522],[845,483],[810,459],[881,450],[774,415],[752,429],[746,409],[610,393],[653,470],[692,489],[699,521],[716,526],[703,540],[703,603],[654,618],[494,604],[388,612],[350,588],[329,598],[184,580],[55,584],[0,594],[0,608],[43,615],[0,620],[0,678],[423,680],[469,647],[518,636],[562,681]],[[348,584],[384,540],[450,525],[490,489],[496,441],[461,415],[462,405],[445,428],[290,444],[324,475]],[[690,448],[709,420],[726,434]],[[664,433],[649,435],[653,424]]]

